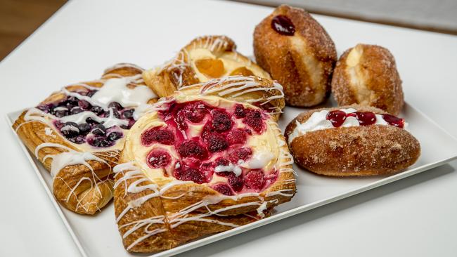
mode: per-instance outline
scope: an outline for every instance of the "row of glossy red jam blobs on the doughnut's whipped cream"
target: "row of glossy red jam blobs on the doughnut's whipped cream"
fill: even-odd
[[[347,117],[356,118],[361,126],[368,126],[376,123],[376,114],[373,112],[352,112],[347,114],[341,110],[335,110],[328,112],[326,119],[328,119],[334,127],[339,127],[345,123]],[[389,125],[397,126],[401,129],[404,127],[404,119],[397,118],[390,114],[382,114],[382,119]]]

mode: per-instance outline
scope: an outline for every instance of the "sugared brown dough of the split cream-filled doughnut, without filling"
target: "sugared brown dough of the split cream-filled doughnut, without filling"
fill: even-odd
[[[375,107],[349,105],[304,112],[290,121],[285,138],[314,112],[355,108],[358,112],[386,112]],[[390,125],[369,125],[321,129],[297,136],[289,144],[297,164],[325,176],[376,176],[397,173],[416,162],[420,144],[405,129]]]

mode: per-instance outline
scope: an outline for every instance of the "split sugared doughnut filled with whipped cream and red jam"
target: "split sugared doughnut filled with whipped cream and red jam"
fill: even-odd
[[[399,119],[375,107],[314,110],[288,124],[285,138],[295,163],[326,176],[396,173],[416,162],[420,145]]]

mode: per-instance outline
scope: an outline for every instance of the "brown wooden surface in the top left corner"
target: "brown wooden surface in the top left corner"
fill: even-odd
[[[0,60],[3,60],[65,2],[65,0],[0,0]]]

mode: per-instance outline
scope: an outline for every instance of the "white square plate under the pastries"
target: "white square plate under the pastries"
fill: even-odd
[[[333,103],[329,101],[328,105],[333,105]],[[299,108],[286,107],[279,121],[281,129],[284,130],[288,121],[303,111],[303,109]],[[17,119],[20,112],[7,114],[8,124],[10,126]],[[211,242],[252,230],[273,221],[309,211],[318,206],[329,204],[339,199],[379,187],[380,185],[385,185],[395,180],[432,169],[457,158],[456,138],[453,138],[434,121],[426,117],[425,114],[406,104],[399,116],[406,119],[409,124],[408,131],[418,138],[422,149],[418,162],[405,171],[392,176],[377,176],[372,178],[326,178],[316,176],[313,173],[300,169],[298,166],[294,166],[295,171],[298,173],[297,195],[295,195],[291,202],[276,207],[276,211],[271,217],[233,230],[221,232],[217,235],[198,239],[168,251],[162,251],[155,256],[171,256],[198,246],[210,244]],[[20,140],[19,142],[82,255],[101,257],[132,256],[122,246],[122,240],[119,232],[117,232],[117,225],[115,223],[113,205],[109,204],[96,216],[82,216],[61,208],[52,195],[52,178],[49,172],[34,158],[33,154],[27,151]]]

